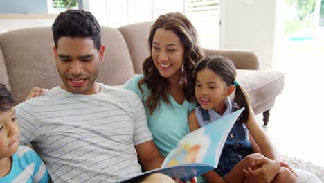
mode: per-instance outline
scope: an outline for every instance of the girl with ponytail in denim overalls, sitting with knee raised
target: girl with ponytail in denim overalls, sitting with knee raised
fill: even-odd
[[[276,148],[255,122],[248,96],[235,80],[231,60],[206,58],[195,73],[199,107],[188,116],[190,132],[245,107],[228,134],[217,168],[204,174],[208,182],[296,182],[289,166],[280,167]],[[228,96],[234,90],[231,100]]]

